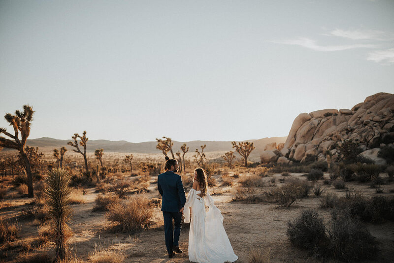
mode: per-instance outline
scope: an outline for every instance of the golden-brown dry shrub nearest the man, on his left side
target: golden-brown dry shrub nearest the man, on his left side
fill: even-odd
[[[149,199],[142,195],[132,197],[125,204],[109,207],[106,214],[108,221],[118,223],[122,230],[127,232],[149,227],[152,216],[153,208],[149,205]]]

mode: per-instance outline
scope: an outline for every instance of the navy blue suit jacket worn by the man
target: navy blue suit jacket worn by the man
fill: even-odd
[[[162,199],[162,211],[179,212],[186,203],[185,189],[179,174],[166,171],[159,174],[157,188]]]

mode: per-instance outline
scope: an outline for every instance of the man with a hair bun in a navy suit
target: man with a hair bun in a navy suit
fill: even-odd
[[[183,189],[181,176],[176,174],[178,163],[175,159],[165,157],[164,173],[159,174],[157,188],[162,199],[162,211],[164,217],[165,246],[168,257],[172,258],[173,253],[182,253],[179,249],[179,235],[181,234],[181,221],[183,206],[186,203],[185,190]],[[172,219],[175,230],[172,233]]]

